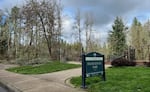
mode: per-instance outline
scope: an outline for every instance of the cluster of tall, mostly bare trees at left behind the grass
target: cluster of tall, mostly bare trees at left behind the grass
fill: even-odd
[[[7,17],[4,19],[5,27],[0,25],[0,41],[2,36],[8,41],[8,57],[21,59],[19,61],[23,62],[19,63],[22,64],[43,56],[60,60],[61,11],[61,3],[56,0],[26,0],[23,6],[14,6],[9,14],[4,13]],[[0,23],[1,20],[0,15]],[[4,55],[6,51],[1,48]]]

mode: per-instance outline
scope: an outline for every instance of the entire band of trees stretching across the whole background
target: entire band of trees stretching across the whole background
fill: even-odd
[[[37,62],[38,60],[33,59],[43,57],[51,60],[79,61],[82,47],[85,47],[86,52],[102,52],[108,58],[109,54],[122,55],[126,48],[124,34],[126,27],[120,17],[115,19],[112,31],[109,33],[109,44],[103,48],[99,45],[99,40],[93,36],[92,14],[87,13],[85,19],[82,19],[78,12],[74,21],[75,36],[78,39],[75,38],[74,43],[67,43],[61,39],[64,38],[61,34],[63,24],[61,2],[59,0],[58,2],[57,0],[26,1],[23,6],[12,7],[9,14],[5,11],[0,14],[0,59],[16,59],[20,65],[30,64],[26,62],[39,63],[41,60]],[[7,16],[4,23],[1,22],[2,16]],[[130,29],[131,34],[128,39],[131,40],[130,45],[136,49],[136,58],[149,59],[150,51],[147,49],[150,44],[149,20],[142,26],[137,18],[134,18]],[[83,41],[81,41],[82,33],[86,36]],[[85,44],[82,45],[81,42]]]

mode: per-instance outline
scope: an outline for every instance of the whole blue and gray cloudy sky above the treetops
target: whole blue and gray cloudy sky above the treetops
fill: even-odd
[[[25,0],[0,0],[0,9],[22,5]],[[70,37],[73,17],[77,9],[82,14],[91,12],[94,16],[95,37],[106,41],[107,33],[116,16],[121,16],[130,26],[134,17],[142,23],[150,17],[150,0],[61,0],[64,8],[64,35]],[[67,37],[66,34],[69,34]],[[69,40],[68,40],[69,41]]]

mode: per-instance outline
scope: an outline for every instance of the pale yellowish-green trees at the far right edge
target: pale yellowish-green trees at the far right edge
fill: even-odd
[[[130,29],[130,45],[135,48],[136,59],[148,59],[147,46],[149,44],[149,26],[149,22],[145,23],[144,26],[142,26],[142,24],[136,17],[133,20]]]

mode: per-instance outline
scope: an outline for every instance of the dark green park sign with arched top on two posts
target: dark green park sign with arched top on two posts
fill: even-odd
[[[91,52],[82,55],[82,87],[85,88],[87,77],[100,75],[105,81],[104,55]]]

